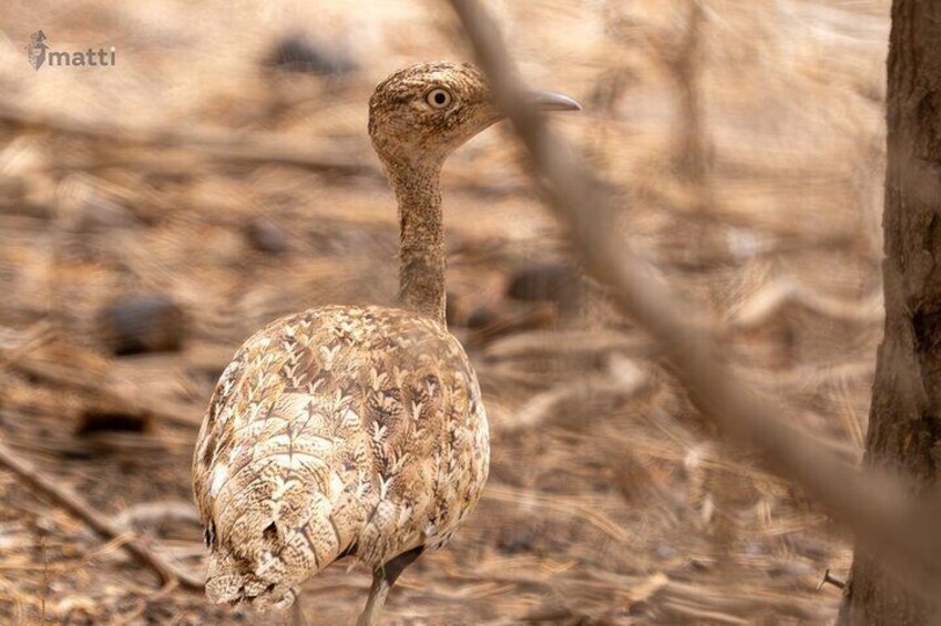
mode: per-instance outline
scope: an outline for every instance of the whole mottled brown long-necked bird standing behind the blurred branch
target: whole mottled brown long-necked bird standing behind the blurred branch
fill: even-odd
[[[534,92],[540,110],[579,110]],[[358,624],[474,509],[490,438],[473,368],[444,318],[439,177],[504,117],[484,74],[401,69],[369,100],[368,132],[398,202],[393,306],[321,306],[252,336],[223,371],[197,435],[193,493],[209,552],[206,595],[298,613],[299,588],[341,558],[368,566]]]

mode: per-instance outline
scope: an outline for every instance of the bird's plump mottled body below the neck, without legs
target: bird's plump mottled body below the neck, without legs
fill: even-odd
[[[323,307],[252,337],[200,432],[193,484],[214,602],[290,604],[340,555],[443,545],[487,480],[480,388],[438,321]]]

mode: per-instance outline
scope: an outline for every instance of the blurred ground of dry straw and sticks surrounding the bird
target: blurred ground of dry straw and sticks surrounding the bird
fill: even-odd
[[[741,378],[861,455],[880,337],[886,0],[487,2],[616,227],[718,321]],[[25,47],[115,50],[34,70]],[[393,302],[378,81],[469,60],[442,2],[0,6],[0,441],[202,573],[196,429],[238,345],[325,304]],[[449,324],[478,369],[490,482],[390,624],[819,624],[849,540],[716,443],[583,278],[504,125],[443,181]],[[0,623],[279,624],[163,588],[0,471]],[[305,587],[351,623],[369,574]]]

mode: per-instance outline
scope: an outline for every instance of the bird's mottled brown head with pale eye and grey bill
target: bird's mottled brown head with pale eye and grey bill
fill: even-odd
[[[579,111],[569,96],[531,94],[544,111]],[[438,166],[504,117],[483,73],[469,63],[420,63],[379,83],[369,100],[369,135],[386,165]]]

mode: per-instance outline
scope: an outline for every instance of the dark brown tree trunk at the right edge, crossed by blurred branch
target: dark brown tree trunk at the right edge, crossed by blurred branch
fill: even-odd
[[[941,0],[893,1],[888,70],[886,335],[866,463],[927,493],[941,464]],[[841,624],[937,624],[935,609],[857,542]]]

